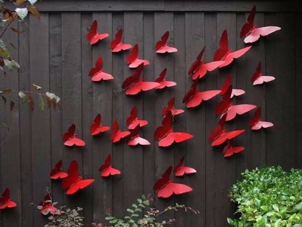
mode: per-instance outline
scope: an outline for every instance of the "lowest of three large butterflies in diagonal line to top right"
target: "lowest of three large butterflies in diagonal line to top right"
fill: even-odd
[[[213,71],[214,69],[218,68],[218,66],[224,63],[224,61],[212,61],[208,63],[202,61],[201,58],[204,53],[204,49],[205,47],[202,48],[196,60],[189,68],[188,75],[191,75],[193,80],[204,77],[207,71]]]

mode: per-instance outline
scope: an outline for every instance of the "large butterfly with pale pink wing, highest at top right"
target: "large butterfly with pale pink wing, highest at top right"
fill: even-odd
[[[256,6],[253,7],[248,17],[248,21],[243,25],[240,31],[240,38],[245,37],[244,39],[245,43],[254,43],[260,38],[260,36],[267,36],[281,29],[280,27],[276,27],[276,26],[266,26],[266,27],[257,28],[257,26],[254,25],[255,13],[256,13]]]

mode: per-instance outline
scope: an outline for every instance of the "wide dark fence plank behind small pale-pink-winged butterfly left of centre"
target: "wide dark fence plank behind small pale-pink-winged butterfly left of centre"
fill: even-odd
[[[137,44],[139,48],[138,56],[143,55],[142,13],[124,13],[124,41],[133,45]],[[126,78],[133,72],[133,69],[129,69],[126,64],[124,65],[124,78]],[[124,95],[123,125],[125,125],[125,121],[134,105],[137,107],[138,117],[142,118],[144,98],[142,93],[135,96]],[[139,132],[142,133],[142,129]],[[130,207],[133,202],[136,202],[136,198],[142,194],[142,152],[140,145],[130,147],[127,142],[124,143],[124,209]]]

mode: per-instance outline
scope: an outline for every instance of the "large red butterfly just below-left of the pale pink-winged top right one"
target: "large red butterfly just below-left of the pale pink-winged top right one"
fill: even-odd
[[[237,51],[230,50],[228,44],[228,33],[226,32],[226,30],[222,32],[219,46],[220,48],[217,49],[214,54],[214,61],[224,61],[223,64],[219,65],[219,68],[230,65],[233,62],[234,58],[241,57],[252,47],[248,46]]]

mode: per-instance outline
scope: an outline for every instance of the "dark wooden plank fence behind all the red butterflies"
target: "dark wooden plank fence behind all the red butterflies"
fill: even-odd
[[[237,144],[246,150],[230,159],[221,151],[211,148],[207,141],[209,130],[217,119],[214,108],[219,98],[196,109],[188,109],[177,118],[175,128],[194,135],[187,143],[160,149],[153,134],[161,123],[160,111],[170,97],[176,97],[176,106],[184,107],[182,97],[191,85],[186,72],[200,49],[206,45],[205,59],[211,60],[221,32],[228,30],[232,49],[242,48],[239,32],[254,2],[248,1],[50,1],[39,5],[41,18],[29,17],[28,27],[19,25],[23,32],[16,36],[8,33],[17,50],[13,56],[20,62],[19,72],[1,77],[1,88],[33,89],[36,83],[61,97],[60,111],[30,112],[27,105],[18,102],[13,111],[2,107],[2,120],[9,131],[1,129],[1,191],[11,188],[18,203],[16,209],[2,210],[2,226],[43,226],[45,217],[29,204],[38,203],[44,188],[51,186],[54,200],[70,207],[84,208],[85,226],[102,221],[106,208],[122,215],[141,194],[153,193],[155,180],[179,158],[186,155],[186,163],[198,171],[193,176],[177,178],[194,188],[192,193],[166,200],[158,200],[158,207],[174,202],[185,203],[200,210],[199,216],[181,212],[177,226],[226,226],[226,217],[232,216],[235,205],[228,197],[228,189],[240,178],[246,168],[263,165],[281,165],[285,169],[302,167],[302,17],[298,4],[278,1],[256,1],[256,24],[276,25],[282,28],[262,38],[243,57],[230,67],[209,73],[199,83],[200,89],[219,88],[228,73],[233,84],[246,90],[237,100],[262,107],[263,117],[272,121],[272,129],[252,132],[248,127],[251,115],[239,117],[229,128],[244,128],[246,133]],[[110,39],[91,47],[86,41],[93,20],[99,30],[110,34]],[[130,74],[125,64],[127,53],[112,54],[111,37],[123,28],[124,41],[140,47],[140,56],[148,59],[143,77],[154,80],[167,67],[167,77],[177,86],[163,92],[151,91],[136,97],[123,94],[121,83]],[[170,31],[170,43],[178,52],[168,56],[155,54],[154,45],[160,36]],[[111,82],[93,83],[88,72],[99,56],[104,69],[112,72]],[[276,80],[263,86],[252,86],[251,76],[262,61],[263,71]],[[139,116],[149,121],[143,135],[152,145],[130,148],[126,143],[112,145],[108,134],[93,138],[89,127],[97,113],[103,122],[111,125],[117,119],[125,128],[125,120],[133,104]],[[85,148],[68,149],[61,136],[70,124],[77,125]],[[122,175],[103,179],[98,168],[108,153]],[[71,160],[80,164],[80,172],[95,183],[74,196],[66,196],[58,182],[51,182],[49,171],[62,159],[66,170]],[[172,213],[173,217],[173,213]]]

